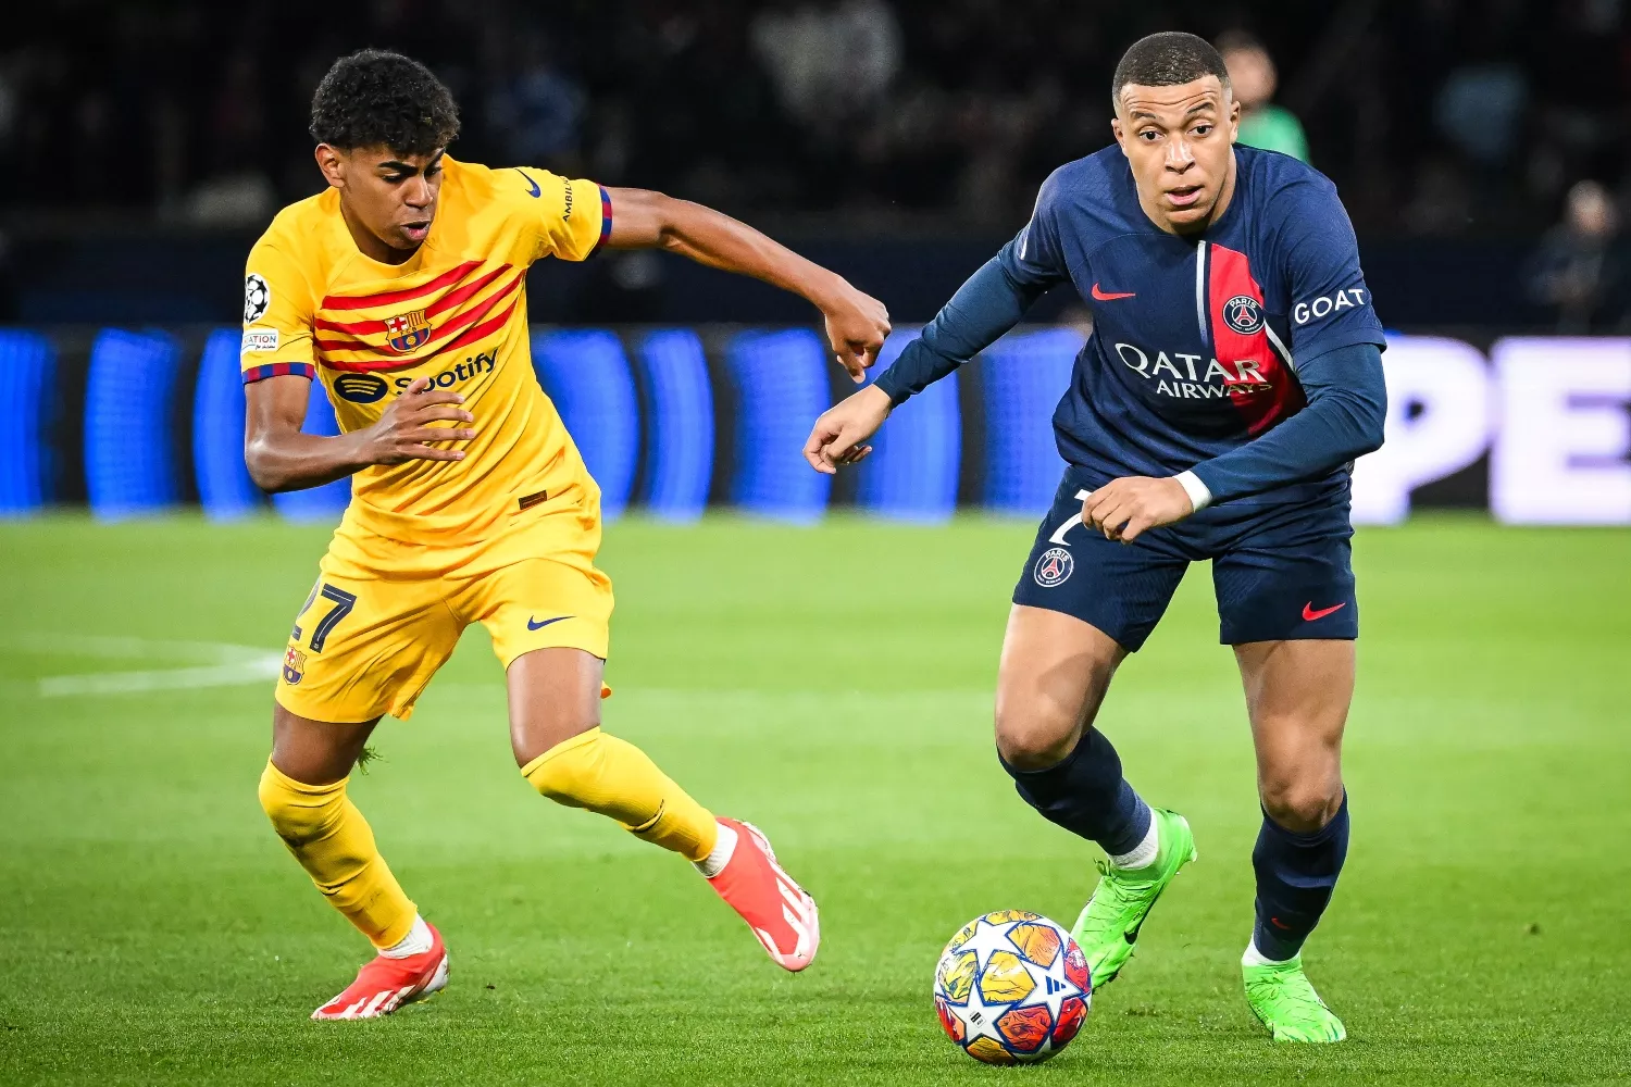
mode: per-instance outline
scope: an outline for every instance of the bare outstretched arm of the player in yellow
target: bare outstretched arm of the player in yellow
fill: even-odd
[[[827,319],[838,363],[860,383],[889,336],[889,310],[837,272],[806,261],[747,223],[649,189],[608,189],[615,249],[667,249],[698,264],[752,275],[809,300]]]

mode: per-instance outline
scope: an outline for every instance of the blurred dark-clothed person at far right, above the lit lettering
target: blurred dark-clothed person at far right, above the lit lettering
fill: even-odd
[[[1620,215],[1597,181],[1569,189],[1562,222],[1546,231],[1533,259],[1530,293],[1556,306],[1559,332],[1611,331],[1624,318],[1615,238]]]

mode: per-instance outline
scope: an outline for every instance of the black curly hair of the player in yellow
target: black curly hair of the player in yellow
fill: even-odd
[[[341,57],[312,96],[312,139],[341,150],[431,155],[457,135],[453,95],[431,68],[400,52],[359,49]]]

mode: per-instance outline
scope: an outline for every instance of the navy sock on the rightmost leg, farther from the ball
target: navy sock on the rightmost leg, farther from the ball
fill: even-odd
[[[1267,813],[1251,851],[1258,872],[1258,922],[1251,942],[1264,958],[1292,958],[1319,924],[1347,859],[1347,794],[1313,834],[1288,831]]]

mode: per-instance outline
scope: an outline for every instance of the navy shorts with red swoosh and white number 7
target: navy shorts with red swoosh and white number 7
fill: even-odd
[[[1085,491],[1086,476],[1068,469],[1014,587],[1016,605],[1076,616],[1137,652],[1189,564],[1210,559],[1225,645],[1359,637],[1346,497],[1223,504],[1124,544],[1081,525]]]

